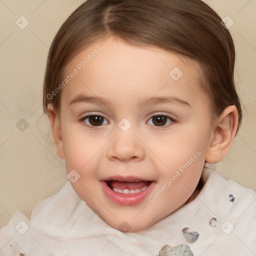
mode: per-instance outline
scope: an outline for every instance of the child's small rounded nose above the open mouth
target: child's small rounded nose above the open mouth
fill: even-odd
[[[108,145],[107,157],[115,161],[139,161],[145,157],[145,149],[132,130],[126,132],[120,130]]]

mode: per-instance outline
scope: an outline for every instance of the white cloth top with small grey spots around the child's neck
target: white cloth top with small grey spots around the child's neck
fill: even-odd
[[[164,244],[180,243],[194,256],[256,255],[256,193],[204,170],[208,180],[193,201],[138,232],[110,227],[67,181],[35,206],[30,220],[19,211],[13,214],[0,229],[0,256],[156,256]],[[185,240],[185,227],[199,233],[195,242]]]

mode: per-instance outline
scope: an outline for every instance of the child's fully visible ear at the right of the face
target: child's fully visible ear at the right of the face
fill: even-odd
[[[219,162],[229,151],[238,125],[238,112],[234,105],[226,107],[217,118],[213,139],[207,146],[205,161]]]

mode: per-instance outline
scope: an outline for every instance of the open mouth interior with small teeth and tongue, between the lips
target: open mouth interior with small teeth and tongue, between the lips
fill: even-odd
[[[113,191],[122,194],[136,194],[145,190],[152,181],[119,181],[119,180],[105,180],[108,187]]]

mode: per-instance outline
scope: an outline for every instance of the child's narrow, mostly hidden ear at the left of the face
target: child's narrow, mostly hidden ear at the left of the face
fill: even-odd
[[[52,104],[48,104],[47,112],[50,122],[51,133],[56,145],[56,154],[58,157],[64,159],[63,141],[61,135],[60,117],[56,114]]]

